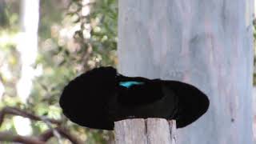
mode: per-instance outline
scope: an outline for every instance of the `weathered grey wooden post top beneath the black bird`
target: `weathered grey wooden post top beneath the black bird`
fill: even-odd
[[[116,144],[175,144],[175,121],[162,118],[127,119],[114,122]]]

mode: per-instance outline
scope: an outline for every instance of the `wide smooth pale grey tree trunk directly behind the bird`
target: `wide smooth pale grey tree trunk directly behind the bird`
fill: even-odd
[[[187,82],[210,98],[202,118],[177,130],[178,144],[252,143],[253,6],[119,0],[119,72]]]

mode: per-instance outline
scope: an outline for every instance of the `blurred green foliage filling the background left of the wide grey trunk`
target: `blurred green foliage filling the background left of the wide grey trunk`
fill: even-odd
[[[14,2],[14,3],[11,3]],[[19,6],[19,2],[11,1],[8,5]],[[85,143],[106,143],[113,134],[104,130],[91,130],[68,121],[58,106],[58,98],[62,89],[70,79],[90,70],[95,66],[115,66],[117,63],[117,18],[118,3],[116,0],[94,0],[86,5],[80,0],[40,1],[40,24],[38,30],[38,58],[34,68],[42,70],[42,74],[34,78],[33,90],[26,103],[16,97],[15,85],[20,77],[21,63],[16,42],[1,43],[1,62],[10,70],[11,78],[0,71],[1,82],[5,86],[5,94],[0,102],[4,106],[17,106],[37,115],[62,119],[71,133]],[[90,14],[82,10],[90,7]],[[14,15],[6,17],[7,15]],[[1,17],[2,16],[2,17]],[[7,18],[7,26],[3,36],[13,39],[18,34],[18,18],[21,15],[8,9],[1,18]],[[0,39],[1,40],[1,39]],[[1,54],[4,55],[2,61]],[[85,91],[86,94],[86,91]],[[6,118],[1,130],[15,132],[11,117]],[[49,127],[44,122],[32,122],[34,135],[42,134]],[[50,142],[56,143],[53,138]]]

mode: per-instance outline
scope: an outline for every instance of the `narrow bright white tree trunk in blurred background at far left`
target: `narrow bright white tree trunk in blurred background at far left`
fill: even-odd
[[[18,97],[26,102],[30,96],[32,80],[36,74],[33,64],[38,54],[38,21],[39,0],[22,0],[21,32],[19,34],[18,51],[21,55],[21,78],[17,83]],[[30,135],[32,128],[28,118],[14,117],[14,126],[21,135]]]

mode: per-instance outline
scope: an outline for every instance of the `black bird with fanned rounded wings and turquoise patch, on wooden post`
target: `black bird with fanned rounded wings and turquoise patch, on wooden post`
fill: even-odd
[[[113,67],[99,67],[74,78],[59,100],[70,121],[94,129],[113,130],[126,118],[175,119],[182,128],[206,113],[209,99],[190,84],[126,77]]]

